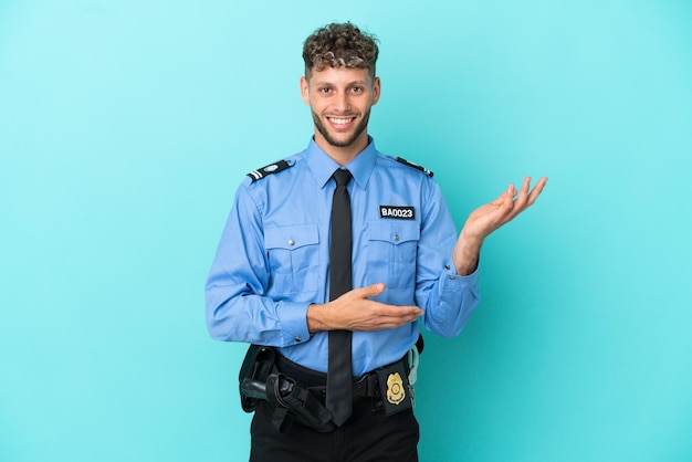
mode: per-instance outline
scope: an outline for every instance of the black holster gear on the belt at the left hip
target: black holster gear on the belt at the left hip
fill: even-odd
[[[295,420],[319,432],[332,431],[332,413],[307,389],[279,372],[272,347],[250,345],[240,368],[240,402],[245,412],[256,409],[259,400],[274,406],[272,423],[285,432]]]

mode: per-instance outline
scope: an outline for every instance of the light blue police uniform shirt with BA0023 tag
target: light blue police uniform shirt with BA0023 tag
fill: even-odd
[[[378,282],[373,300],[424,309],[422,325],[452,337],[479,300],[479,272],[459,276],[457,230],[434,180],[369,145],[346,166],[353,216],[353,284]],[[311,303],[329,296],[329,217],[339,168],[314,140],[287,168],[239,187],[209,273],[207,325],[219,340],[279,347],[289,359],[327,370],[327,333],[310,334]],[[271,170],[271,169],[269,169]],[[419,323],[353,333],[353,370],[400,359]]]

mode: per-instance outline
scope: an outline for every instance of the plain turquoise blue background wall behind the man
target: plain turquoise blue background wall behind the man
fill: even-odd
[[[244,175],[308,141],[333,20],[381,40],[370,133],[458,227],[551,178],[427,337],[421,460],[692,460],[685,0],[0,1],[0,460],[247,460],[202,287]]]

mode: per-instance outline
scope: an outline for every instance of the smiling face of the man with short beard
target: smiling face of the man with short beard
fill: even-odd
[[[301,78],[301,93],[315,123],[315,141],[329,148],[354,149],[367,146],[370,107],[379,99],[379,77],[366,69],[325,67]]]

